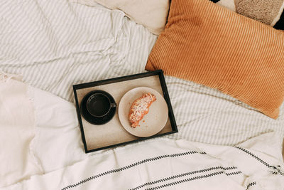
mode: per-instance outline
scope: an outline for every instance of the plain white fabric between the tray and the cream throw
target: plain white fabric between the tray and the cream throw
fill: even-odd
[[[67,167],[88,157],[84,153],[75,105],[51,93],[30,88],[35,107],[34,152],[43,172]]]

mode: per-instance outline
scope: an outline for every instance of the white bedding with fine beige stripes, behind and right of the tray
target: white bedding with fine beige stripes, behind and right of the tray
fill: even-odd
[[[72,85],[144,72],[157,36],[122,11],[68,1],[0,2],[0,69],[70,102]],[[165,78],[180,132],[168,137],[237,144],[263,132],[284,137],[278,120],[202,85]]]

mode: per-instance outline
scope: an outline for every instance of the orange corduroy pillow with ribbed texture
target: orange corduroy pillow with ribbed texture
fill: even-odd
[[[157,69],[276,119],[284,100],[284,32],[208,0],[175,0],[146,65]]]

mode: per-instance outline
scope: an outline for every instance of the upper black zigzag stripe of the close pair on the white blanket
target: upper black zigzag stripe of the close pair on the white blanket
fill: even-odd
[[[166,177],[166,178],[159,179],[159,180],[156,180],[156,181],[147,182],[145,184],[141,184],[140,186],[136,186],[135,188],[132,188],[132,189],[129,189],[129,190],[137,190],[137,189],[143,188],[144,186],[158,184],[158,183],[161,183],[163,181],[168,181],[168,180],[171,180],[171,179],[177,179],[177,178],[180,178],[182,176],[189,176],[189,175],[192,175],[192,174],[203,173],[203,172],[211,171],[211,170],[215,170],[215,169],[231,170],[231,169],[236,169],[236,167],[210,167],[210,168],[207,168],[207,169],[190,171],[190,172],[187,172],[187,173]],[[231,172],[231,173],[228,173],[228,174],[226,172],[224,172],[224,173],[228,176],[231,176],[231,175],[241,174],[241,171],[234,171],[234,172]]]

